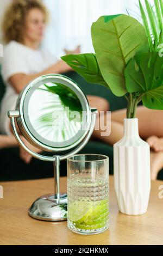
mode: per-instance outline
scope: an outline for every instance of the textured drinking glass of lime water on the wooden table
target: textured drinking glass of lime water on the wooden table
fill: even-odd
[[[76,155],[67,159],[68,228],[78,234],[109,227],[109,158]]]

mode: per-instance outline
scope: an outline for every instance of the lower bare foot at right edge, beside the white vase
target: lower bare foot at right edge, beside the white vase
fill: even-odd
[[[151,152],[151,180],[156,180],[163,168],[163,152]]]

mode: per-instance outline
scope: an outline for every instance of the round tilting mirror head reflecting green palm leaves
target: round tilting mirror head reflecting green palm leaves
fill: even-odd
[[[75,147],[90,127],[91,110],[78,84],[62,75],[36,78],[20,94],[17,124],[24,137],[46,151]]]

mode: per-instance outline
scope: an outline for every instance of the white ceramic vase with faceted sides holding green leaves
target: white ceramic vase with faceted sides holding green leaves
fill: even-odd
[[[151,191],[150,148],[139,136],[138,119],[124,119],[124,136],[114,145],[114,181],[120,211],[145,214]]]

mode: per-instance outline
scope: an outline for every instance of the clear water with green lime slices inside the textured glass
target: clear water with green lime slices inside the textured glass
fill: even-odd
[[[101,175],[74,175],[67,179],[68,228],[96,234],[109,226],[108,180]]]

